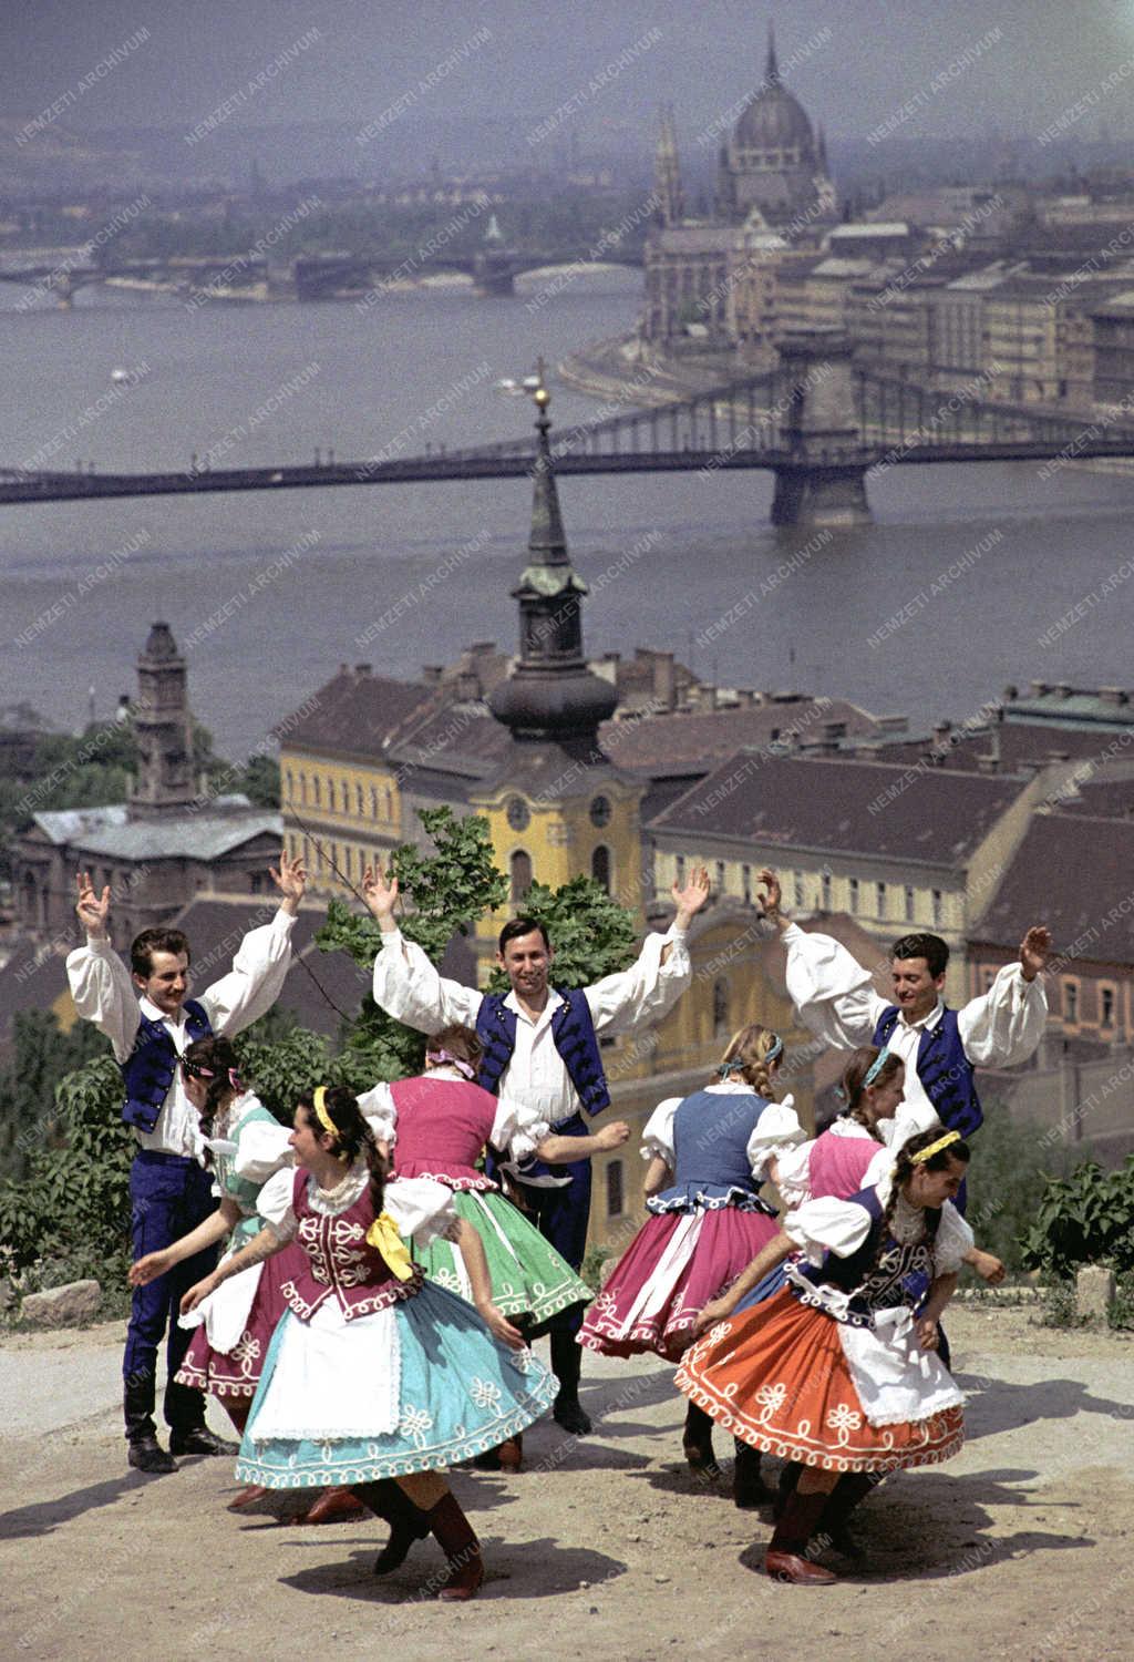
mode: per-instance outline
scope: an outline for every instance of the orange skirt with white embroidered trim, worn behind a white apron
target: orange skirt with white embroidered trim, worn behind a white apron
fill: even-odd
[[[712,1326],[686,1351],[676,1384],[742,1443],[825,1471],[935,1466],[965,1441],[960,1406],[872,1426],[838,1321],[787,1288]]]

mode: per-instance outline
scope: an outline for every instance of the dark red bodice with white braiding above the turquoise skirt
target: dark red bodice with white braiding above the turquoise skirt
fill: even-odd
[[[412,1280],[398,1281],[382,1253],[367,1242],[374,1223],[370,1187],[352,1207],[330,1217],[314,1210],[307,1183],[307,1172],[296,1172],[292,1210],[305,1266],[281,1286],[301,1321],[310,1321],[329,1298],[337,1301],[347,1321],[372,1316],[398,1298],[412,1298],[422,1285],[422,1271],[415,1268]]]

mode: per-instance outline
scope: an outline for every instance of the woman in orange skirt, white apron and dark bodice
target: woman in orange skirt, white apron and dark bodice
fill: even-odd
[[[936,1358],[938,1316],[971,1240],[948,1205],[968,1170],[956,1132],[920,1132],[892,1173],[850,1200],[810,1200],[724,1295],[701,1311],[707,1335],[686,1353],[677,1389],[759,1449],[805,1469],[769,1544],[779,1581],[835,1577],[807,1542],[868,1492],[873,1474],[948,1459],[963,1441],[961,1393]],[[787,1285],[734,1315],[741,1298],[789,1253]],[[930,1298],[913,1321],[905,1276],[926,1273]]]

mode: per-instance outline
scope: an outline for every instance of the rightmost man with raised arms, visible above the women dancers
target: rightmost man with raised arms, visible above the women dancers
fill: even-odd
[[[878,1045],[905,1062],[903,1115],[915,1130],[938,1120],[961,1137],[981,1125],[973,1070],[1026,1062],[1048,1019],[1039,971],[1051,934],[1036,924],[1019,942],[1019,961],[1004,964],[976,999],[951,1010],[941,999],[950,949],[940,936],[907,934],[890,954],[893,1002],[873,991],[870,972],[825,934],[807,934],[784,912],[774,871],[762,871],[764,912],[787,947],[787,991],[805,1025],[842,1050]]]

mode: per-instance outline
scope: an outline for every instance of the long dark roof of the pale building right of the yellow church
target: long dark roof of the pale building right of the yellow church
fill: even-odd
[[[1023,779],[918,765],[742,751],[649,829],[951,866],[973,854],[1024,788]]]

